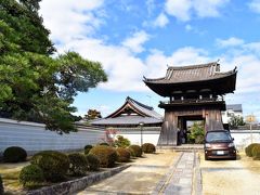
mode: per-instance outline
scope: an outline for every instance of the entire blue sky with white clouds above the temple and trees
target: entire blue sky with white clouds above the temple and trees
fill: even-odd
[[[72,50],[99,61],[108,82],[75,100],[78,113],[103,116],[129,95],[157,107],[164,100],[143,83],[169,66],[220,60],[238,68],[236,91],[244,115],[260,117],[260,0],[43,0],[40,14],[58,53]],[[259,118],[260,119],[260,118]]]

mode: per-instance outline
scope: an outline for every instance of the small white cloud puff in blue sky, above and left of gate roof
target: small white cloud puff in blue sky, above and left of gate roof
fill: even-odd
[[[129,48],[134,53],[141,53],[144,51],[143,44],[150,39],[150,37],[151,36],[144,30],[136,31],[122,41],[122,46]]]

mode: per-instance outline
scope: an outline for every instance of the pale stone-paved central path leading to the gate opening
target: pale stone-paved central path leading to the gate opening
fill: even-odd
[[[159,194],[191,195],[195,153],[184,152]]]

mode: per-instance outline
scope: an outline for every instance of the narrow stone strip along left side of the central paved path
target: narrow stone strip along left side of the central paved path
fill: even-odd
[[[152,195],[158,195],[161,194],[161,191],[165,190],[167,183],[171,179],[173,171],[180,161],[181,157],[183,156],[183,153],[181,153],[178,157],[178,159],[169,167],[168,172],[162,177],[162,179],[156,184],[155,188],[152,192]]]

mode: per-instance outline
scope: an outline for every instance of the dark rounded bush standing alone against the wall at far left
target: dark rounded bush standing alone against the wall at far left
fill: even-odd
[[[3,161],[5,162],[25,161],[26,157],[27,157],[26,151],[18,146],[8,147],[3,152]]]

